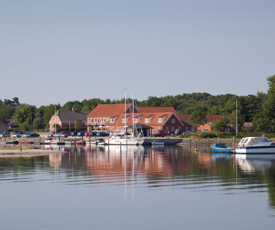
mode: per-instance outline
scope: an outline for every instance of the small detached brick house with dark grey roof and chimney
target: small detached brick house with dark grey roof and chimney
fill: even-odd
[[[87,116],[83,111],[75,110],[75,108],[72,108],[72,110],[58,110],[51,117],[50,130],[54,131],[56,123],[61,128],[68,128],[69,131],[70,128],[75,128],[75,121],[78,118],[81,120],[81,128],[85,128]]]

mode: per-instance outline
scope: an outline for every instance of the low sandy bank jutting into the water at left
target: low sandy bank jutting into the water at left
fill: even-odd
[[[30,156],[42,156],[49,155],[50,153],[68,153],[64,151],[54,151],[48,149],[26,149],[20,152],[19,149],[0,150],[0,157],[30,157]]]

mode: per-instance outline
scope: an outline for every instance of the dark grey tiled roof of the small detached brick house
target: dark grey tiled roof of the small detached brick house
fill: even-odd
[[[58,110],[53,116],[58,116],[61,122],[75,122],[78,118],[82,123],[87,122],[87,116],[81,110]]]

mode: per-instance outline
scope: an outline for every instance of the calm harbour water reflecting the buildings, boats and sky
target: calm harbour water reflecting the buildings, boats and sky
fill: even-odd
[[[274,229],[275,155],[59,148],[0,158],[0,229]]]

